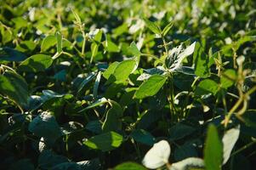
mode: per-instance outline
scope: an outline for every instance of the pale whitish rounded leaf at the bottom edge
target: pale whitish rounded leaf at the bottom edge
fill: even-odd
[[[162,167],[164,164],[168,163],[170,154],[171,147],[168,144],[168,141],[161,140],[154,144],[151,150],[145,154],[142,164],[150,169]]]

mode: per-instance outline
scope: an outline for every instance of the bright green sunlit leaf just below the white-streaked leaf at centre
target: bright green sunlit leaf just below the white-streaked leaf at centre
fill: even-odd
[[[163,86],[167,77],[160,75],[153,75],[148,80],[143,82],[139,89],[134,94],[134,98],[144,99],[145,97],[155,95]]]

